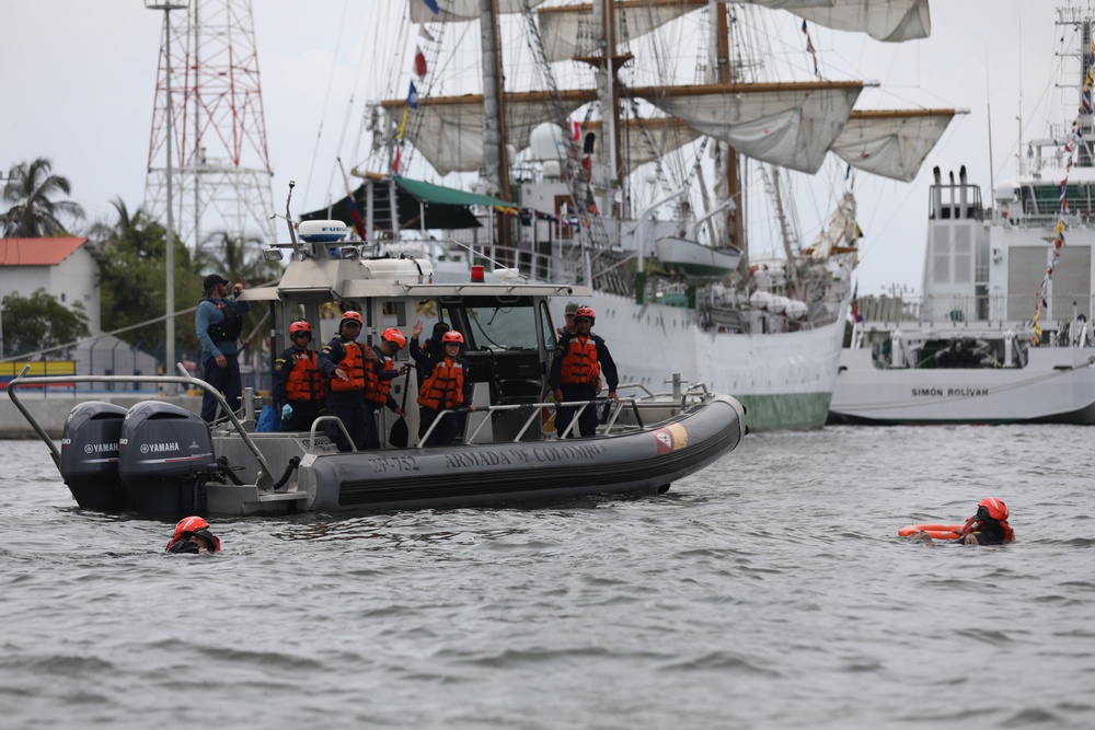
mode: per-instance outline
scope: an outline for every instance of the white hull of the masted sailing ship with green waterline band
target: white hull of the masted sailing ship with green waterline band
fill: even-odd
[[[750,432],[825,425],[844,335],[844,314],[802,332],[705,332],[680,306],[639,305],[595,292],[596,332],[606,338],[620,382],[665,391],[666,372],[728,393],[746,406]]]

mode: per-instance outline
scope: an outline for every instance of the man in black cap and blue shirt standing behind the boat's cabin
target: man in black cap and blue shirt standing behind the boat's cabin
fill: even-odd
[[[194,314],[194,331],[201,343],[201,376],[207,383],[224,394],[228,407],[240,409],[243,383],[240,379],[240,333],[243,332],[243,315],[251,311],[251,304],[237,299],[243,291],[242,283],[232,285],[232,298],[228,299],[228,279],[219,274],[205,278],[205,299],[198,303]],[[173,362],[168,363],[174,367]],[[211,424],[217,417],[217,398],[209,392],[201,397],[201,418]]]

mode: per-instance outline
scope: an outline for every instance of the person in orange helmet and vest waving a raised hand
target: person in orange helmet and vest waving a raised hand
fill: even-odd
[[[412,340],[413,341],[413,340]],[[418,389],[418,405],[420,418],[418,438],[422,439],[442,410],[466,406],[475,410],[472,403],[472,381],[468,376],[468,361],[460,357],[464,336],[456,329],[450,329],[441,336],[443,356],[434,359],[428,354],[417,350],[415,367],[423,374],[422,386]],[[412,354],[416,348],[413,348]],[[428,374],[427,374],[428,373]],[[457,414],[447,414],[434,427],[429,438],[422,442],[424,447],[445,447],[457,440],[460,432],[461,418]]]

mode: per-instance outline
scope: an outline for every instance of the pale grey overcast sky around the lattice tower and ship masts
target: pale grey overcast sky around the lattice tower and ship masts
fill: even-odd
[[[379,93],[368,88],[369,63],[355,91],[358,58],[377,47],[381,18],[402,3],[254,0],[253,5],[276,206],[280,209],[286,185],[295,179],[295,212],[320,207],[328,194],[342,195],[334,159],[342,154],[353,162],[361,102]],[[1053,25],[1056,7],[1053,0],[935,0],[930,38],[900,46],[865,42],[851,54],[837,49],[843,34],[811,30],[830,78],[854,78],[845,72],[852,68],[858,78],[886,84],[887,96],[875,107],[906,100],[970,111],[952,124],[913,183],[860,174],[858,218],[867,236],[857,275],[861,293],[894,283],[919,289],[933,165],[946,176],[965,164],[971,182],[989,196],[990,107],[998,184],[1014,174],[1021,103],[1024,139],[1045,135],[1047,119],[1074,116],[1075,96],[1068,97],[1070,111],[1052,93],[1054,39],[1063,34]],[[162,22],[161,12],[138,0],[0,0],[0,171],[51,158],[54,172],[71,181],[71,197],[91,220],[111,219],[115,197],[130,209],[140,205]],[[365,53],[371,60],[373,51]],[[387,65],[380,60],[377,69]],[[806,208],[799,206],[804,219],[810,215]],[[816,224],[803,221],[807,241]]]

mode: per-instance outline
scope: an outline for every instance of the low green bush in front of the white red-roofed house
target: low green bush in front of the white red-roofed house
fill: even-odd
[[[80,302],[70,310],[38,289],[30,297],[13,291],[3,298],[3,355],[15,358],[50,350],[44,359],[65,360],[72,357],[78,339],[89,337],[88,314]],[[53,349],[66,345],[60,349]]]

